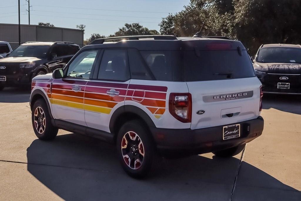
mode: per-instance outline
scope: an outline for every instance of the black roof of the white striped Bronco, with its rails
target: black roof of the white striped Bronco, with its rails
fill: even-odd
[[[117,41],[116,41],[117,40]],[[111,42],[110,42],[111,41]],[[113,41],[113,42],[112,42]],[[208,44],[231,44],[232,49],[245,47],[240,41],[229,40],[223,36],[175,37],[175,36],[122,36],[96,39],[82,50],[93,48],[136,48],[138,50],[199,50],[206,49]]]

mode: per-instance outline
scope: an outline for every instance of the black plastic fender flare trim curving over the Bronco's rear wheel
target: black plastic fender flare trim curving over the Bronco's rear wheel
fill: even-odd
[[[125,113],[132,113],[139,116],[147,124],[148,127],[156,127],[151,117],[141,108],[138,108],[134,105],[123,105],[117,108],[111,116],[109,123],[110,133],[114,133],[115,123],[118,121],[119,117],[121,117]]]

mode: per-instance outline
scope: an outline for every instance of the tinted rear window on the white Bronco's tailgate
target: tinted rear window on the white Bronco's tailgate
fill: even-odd
[[[246,50],[184,51],[185,81],[224,80],[254,77]]]

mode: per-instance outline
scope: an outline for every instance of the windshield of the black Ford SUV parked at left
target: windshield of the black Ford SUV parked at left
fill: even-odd
[[[9,55],[10,57],[46,58],[50,46],[19,46]]]

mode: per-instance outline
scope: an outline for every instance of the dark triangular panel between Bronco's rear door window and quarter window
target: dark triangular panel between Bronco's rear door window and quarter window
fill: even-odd
[[[140,52],[137,49],[129,48],[129,64],[131,78],[137,80],[154,80],[153,74],[146,66]]]

